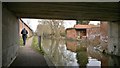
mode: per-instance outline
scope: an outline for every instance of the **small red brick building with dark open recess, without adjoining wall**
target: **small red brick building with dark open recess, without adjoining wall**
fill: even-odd
[[[87,37],[87,29],[90,29],[89,25],[75,25],[73,28],[66,29],[66,37],[72,39],[81,39]]]

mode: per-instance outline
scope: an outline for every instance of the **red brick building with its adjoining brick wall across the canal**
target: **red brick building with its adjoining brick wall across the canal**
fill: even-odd
[[[66,29],[66,37],[72,39],[94,38],[100,34],[100,25],[75,25]]]

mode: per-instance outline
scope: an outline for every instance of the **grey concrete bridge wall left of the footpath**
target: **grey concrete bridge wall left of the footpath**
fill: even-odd
[[[8,66],[19,47],[19,22],[12,12],[2,9],[2,65]]]

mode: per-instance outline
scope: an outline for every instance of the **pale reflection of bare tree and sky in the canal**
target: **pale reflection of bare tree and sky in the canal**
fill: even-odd
[[[76,54],[67,50],[65,42],[62,40],[42,41],[42,47],[55,66],[78,66]]]

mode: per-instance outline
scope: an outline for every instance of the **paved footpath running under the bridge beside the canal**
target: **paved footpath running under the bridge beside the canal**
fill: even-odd
[[[27,43],[24,47],[20,47],[19,53],[15,61],[10,65],[11,67],[47,67],[48,65],[43,57],[43,55],[35,52],[30,48],[32,44],[32,38],[27,40]]]

